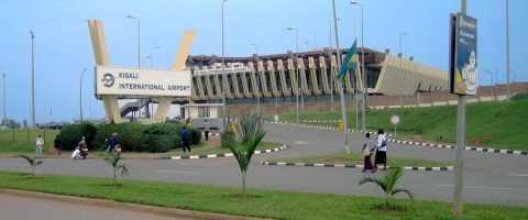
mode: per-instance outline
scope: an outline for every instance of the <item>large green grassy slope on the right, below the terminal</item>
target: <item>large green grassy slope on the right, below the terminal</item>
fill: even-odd
[[[491,146],[508,150],[528,150],[528,135],[525,133],[528,124],[528,95],[517,95],[512,101],[481,102],[466,105],[466,144],[472,146]],[[424,141],[457,142],[457,106],[438,106],[422,108],[395,108],[383,110],[369,110],[366,129],[377,131],[378,128],[386,132],[394,132],[391,117],[398,114],[402,119],[397,127],[397,139],[407,139],[413,135]],[[355,129],[355,113],[348,111],[349,128]],[[361,114],[360,114],[361,117]],[[273,116],[265,116],[272,121]],[[295,113],[279,114],[282,121],[296,121]],[[339,120],[341,111],[306,112],[299,114],[299,121],[305,120]],[[337,123],[322,125],[336,127]],[[361,128],[361,119],[360,119]]]

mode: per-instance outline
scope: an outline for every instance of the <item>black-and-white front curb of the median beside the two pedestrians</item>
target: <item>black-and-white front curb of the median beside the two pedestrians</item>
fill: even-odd
[[[311,166],[311,167],[332,167],[332,168],[363,168],[363,165],[350,165],[350,164],[312,164],[312,163],[293,163],[293,162],[261,162],[261,165],[265,166]],[[454,170],[453,166],[404,166],[404,167],[391,167],[387,168],[404,168],[405,170],[421,170],[421,172],[450,172]]]

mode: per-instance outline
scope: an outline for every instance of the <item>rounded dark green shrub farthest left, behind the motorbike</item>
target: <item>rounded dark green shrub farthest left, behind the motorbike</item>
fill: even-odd
[[[61,129],[58,139],[63,142],[64,150],[73,150],[85,136],[88,148],[94,148],[97,128],[91,123],[67,124]]]

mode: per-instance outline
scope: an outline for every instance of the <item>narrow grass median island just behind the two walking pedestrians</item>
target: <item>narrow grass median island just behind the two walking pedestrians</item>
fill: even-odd
[[[374,155],[371,156],[372,163],[374,163]],[[315,163],[315,164],[351,164],[363,165],[363,155],[360,154],[330,154],[322,156],[309,156],[297,158],[280,158],[273,160],[272,162],[293,162],[293,163]],[[421,158],[403,158],[387,156],[388,166],[451,166],[450,163],[421,160]]]

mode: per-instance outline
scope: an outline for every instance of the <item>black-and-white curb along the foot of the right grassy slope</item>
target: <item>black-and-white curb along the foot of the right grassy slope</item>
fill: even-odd
[[[290,124],[294,127],[297,127],[295,123],[288,123],[288,122],[267,122],[272,124]],[[308,128],[308,129],[320,129],[320,130],[330,130],[330,131],[338,131],[336,128],[328,128],[328,127],[316,127],[316,125],[306,125],[306,124],[299,124],[298,127],[300,128]],[[355,130],[348,130],[349,132],[355,132],[355,133],[367,133],[369,131],[355,131]],[[371,134],[377,134],[376,132],[369,132]],[[388,136],[393,136],[393,134],[388,134]],[[432,146],[432,147],[438,147],[438,148],[457,148],[457,146],[453,145],[442,145],[442,144],[429,144],[429,143],[422,143],[422,142],[411,142],[411,141],[400,141],[400,140],[394,140],[394,139],[387,139],[388,142],[393,143],[403,143],[403,144],[410,144],[410,145],[420,145],[420,146]],[[466,146],[464,148],[465,151],[475,151],[475,152],[487,152],[487,153],[498,153],[498,154],[512,154],[512,155],[528,155],[528,151],[514,151],[514,150],[501,150],[501,148],[492,148],[492,147],[476,147],[476,146]]]

